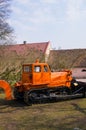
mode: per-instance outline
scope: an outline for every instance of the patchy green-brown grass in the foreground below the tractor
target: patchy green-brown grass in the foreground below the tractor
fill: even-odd
[[[86,130],[86,98],[27,106],[0,94],[0,130]]]

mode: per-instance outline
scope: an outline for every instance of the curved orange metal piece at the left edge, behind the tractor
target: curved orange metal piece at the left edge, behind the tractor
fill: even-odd
[[[12,97],[12,90],[11,90],[11,87],[9,85],[8,82],[6,82],[5,80],[0,80],[0,88],[2,88],[5,92],[5,99],[6,100],[12,100],[13,97]]]

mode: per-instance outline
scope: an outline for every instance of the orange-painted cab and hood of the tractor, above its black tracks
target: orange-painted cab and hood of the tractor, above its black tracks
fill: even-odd
[[[72,73],[70,70],[61,72],[51,72],[47,63],[39,63],[38,59],[35,63],[24,64],[22,66],[21,84],[15,85],[23,91],[32,88],[54,88],[54,87],[68,87],[71,86]]]

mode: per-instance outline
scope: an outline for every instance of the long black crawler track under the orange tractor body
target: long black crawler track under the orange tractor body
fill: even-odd
[[[46,96],[46,95],[36,96],[35,94],[28,95],[28,92],[25,92],[24,102],[27,105],[32,105],[32,104],[38,104],[38,103],[42,104],[42,103],[66,101],[66,100],[85,98],[85,97],[86,97],[86,93],[77,93],[77,94],[71,94],[71,95],[50,94],[49,96]]]

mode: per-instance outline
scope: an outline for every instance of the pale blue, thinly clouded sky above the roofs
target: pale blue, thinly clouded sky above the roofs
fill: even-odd
[[[53,49],[86,48],[86,0],[13,0],[9,23],[16,42],[51,42]]]

